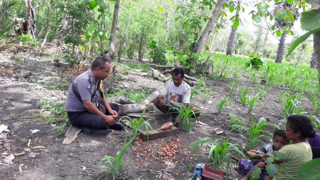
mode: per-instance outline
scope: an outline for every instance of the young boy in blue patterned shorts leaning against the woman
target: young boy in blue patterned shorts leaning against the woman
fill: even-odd
[[[273,153],[274,151],[279,151],[284,145],[289,144],[289,139],[287,139],[284,130],[282,129],[278,129],[274,132],[273,135],[273,143],[269,143],[265,146],[263,146],[262,148],[260,148],[258,151],[257,150],[250,150],[247,151],[247,155],[250,157],[251,155],[254,154],[266,154],[266,153]],[[257,159],[256,161],[254,161],[252,163],[251,160],[248,160],[248,164],[247,164],[247,160],[243,159],[239,161],[239,167],[242,171],[244,171],[244,173],[247,173],[247,175],[245,175],[241,180],[249,180],[250,179],[250,174],[252,172],[253,166],[257,166],[259,168],[265,168],[266,164],[263,160],[262,157],[260,156],[256,156],[253,157],[252,159]],[[264,169],[262,169],[262,173],[265,176],[269,176],[268,172],[265,171]],[[263,179],[263,177],[260,176],[259,179]]]

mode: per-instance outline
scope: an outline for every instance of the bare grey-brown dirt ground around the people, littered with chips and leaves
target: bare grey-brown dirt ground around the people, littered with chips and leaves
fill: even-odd
[[[28,118],[32,114],[42,112],[37,103],[44,97],[50,98],[56,103],[65,101],[67,88],[76,77],[72,75],[74,71],[69,71],[66,64],[63,64],[62,67],[55,67],[52,60],[53,54],[54,50],[46,56],[35,57],[30,53],[30,50],[23,46],[15,46],[0,54],[0,67],[2,70],[7,70],[7,74],[4,71],[0,72],[0,124],[8,126],[10,130],[10,132],[4,131],[0,136],[0,160],[4,160],[11,153],[15,155],[12,164],[2,162],[0,165],[0,179],[111,179],[105,169],[97,169],[96,167],[104,156],[116,155],[116,152],[121,149],[124,139],[131,134],[130,129],[112,131],[107,136],[81,132],[76,141],[63,145],[63,135],[69,126],[64,128],[62,136],[56,138],[56,131],[52,124],[46,123],[48,119],[31,121]],[[16,64],[16,57],[27,60]],[[59,75],[59,72],[62,71],[68,75]],[[131,73],[122,74],[113,88],[133,87],[135,90],[143,90],[152,87],[154,90],[162,90],[164,83],[151,78],[151,72],[148,72],[148,77],[139,75],[141,73],[139,70],[130,69],[130,71]],[[23,78],[30,72],[31,76]],[[15,74],[19,74],[19,77],[16,78]],[[60,88],[50,88],[52,85],[61,84],[61,82],[67,82],[67,85],[62,88],[61,86]],[[229,92],[226,88],[228,80],[213,84],[213,80],[207,79],[205,83],[207,88],[214,91],[211,97],[213,102],[228,97]],[[196,87],[191,88],[192,90],[196,89]],[[282,119],[276,109],[282,106],[277,102],[278,88],[272,87],[267,97],[262,99],[265,106],[261,104],[260,111],[253,112],[255,122],[261,116],[268,118],[268,122],[277,123]],[[227,108],[227,111],[219,116],[215,114],[215,106],[210,108],[211,105],[203,103],[202,97],[197,95],[193,104],[204,111],[200,121],[208,125],[195,123],[191,134],[179,128],[178,133],[174,136],[145,142],[138,138],[134,141],[126,153],[126,161],[131,167],[131,169],[125,168],[126,176],[129,176],[127,179],[137,179],[142,176],[141,179],[187,180],[192,175],[192,172],[188,171],[191,159],[195,163],[210,163],[203,158],[195,157],[197,154],[205,153],[204,148],[198,147],[193,153],[190,153],[190,148],[184,150],[190,143],[204,137],[218,139],[223,136],[223,139],[228,138],[230,143],[237,143],[239,148],[242,148],[244,152],[247,151],[244,139],[240,138],[236,131],[227,132],[231,113],[236,117],[244,118],[247,122],[250,121],[251,115],[247,113],[247,107],[240,105],[238,91],[236,90],[231,96],[230,106],[232,108]],[[305,106],[307,107],[307,105],[308,101],[306,100]],[[164,118],[165,116],[162,119],[156,119],[157,122],[150,121],[152,127],[159,128],[165,122]],[[39,131],[32,133],[32,130],[35,129]],[[223,132],[217,134],[218,131]],[[28,145],[29,140],[30,144]],[[264,140],[269,142],[267,139]],[[35,146],[43,146],[44,148],[31,149]],[[230,153],[237,156],[234,152]],[[226,167],[226,164],[223,164],[221,170],[226,172]],[[168,170],[167,173],[163,169]],[[161,173],[152,171],[160,171]],[[237,161],[232,159],[228,178],[241,179],[243,176],[244,174],[238,169]]]

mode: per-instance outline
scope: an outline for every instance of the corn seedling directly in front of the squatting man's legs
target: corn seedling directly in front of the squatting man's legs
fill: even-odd
[[[172,107],[173,109],[176,109],[178,110],[179,112],[179,116],[180,116],[180,129],[183,130],[183,129],[188,129],[189,130],[189,133],[191,133],[191,130],[192,130],[192,117],[196,117],[196,113],[198,112],[202,112],[202,111],[191,111],[190,110],[190,105],[188,107],[184,106],[182,103],[181,104],[181,107],[178,108],[178,107]],[[171,108],[171,109],[172,109]]]

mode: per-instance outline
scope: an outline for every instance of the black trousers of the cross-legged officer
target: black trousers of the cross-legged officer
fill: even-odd
[[[119,106],[116,103],[109,103],[111,109],[119,111]],[[108,123],[101,116],[94,115],[89,111],[67,112],[71,124],[77,127],[89,129],[110,129]],[[108,111],[106,115],[111,115]]]

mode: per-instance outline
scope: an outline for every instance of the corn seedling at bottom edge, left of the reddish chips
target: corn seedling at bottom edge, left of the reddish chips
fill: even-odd
[[[135,138],[136,138],[135,136],[132,137],[130,139],[130,141],[128,141],[128,142],[126,142],[124,140],[124,143],[123,143],[121,150],[117,151],[115,157],[112,157],[109,155],[109,156],[102,158],[102,160],[98,164],[97,170],[99,168],[107,169],[108,172],[111,173],[113,180],[115,180],[115,179],[120,180],[120,179],[127,178],[127,177],[124,177],[124,169],[123,168],[124,168],[124,165],[127,166],[128,168],[130,168],[130,165],[128,163],[126,163],[125,153],[127,152],[128,147],[131,145],[132,141]],[[102,165],[103,161],[107,161],[107,163],[105,165]]]

